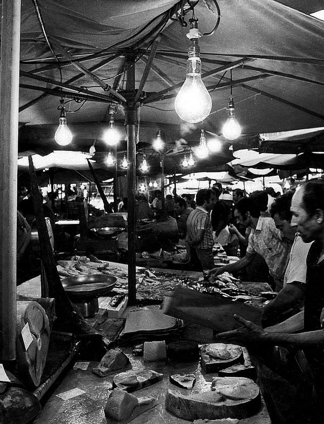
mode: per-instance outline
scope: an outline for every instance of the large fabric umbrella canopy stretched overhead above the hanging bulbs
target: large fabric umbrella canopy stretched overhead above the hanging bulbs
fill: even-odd
[[[309,15],[321,9],[321,3],[219,0],[218,5],[218,27],[199,39],[212,110],[190,132],[204,128],[221,133],[231,85],[243,134],[254,137],[322,126],[324,27]],[[66,105],[68,124],[89,123],[89,133],[93,123],[107,124],[110,103],[119,104],[115,121],[123,124],[125,99],[130,94],[125,57],[134,54],[140,120],[180,128],[174,98],[185,79],[188,28],[182,24],[191,14],[188,4],[171,0],[98,0],[95,5],[90,0],[68,4],[25,0],[19,121],[25,127],[51,125],[51,137],[39,144],[54,146],[62,95],[72,100]],[[216,2],[198,2],[194,14],[201,33],[217,26]],[[155,128],[147,140],[154,133]],[[83,150],[78,143],[85,138],[75,137],[76,149]],[[178,139],[179,132],[171,132],[169,142]]]

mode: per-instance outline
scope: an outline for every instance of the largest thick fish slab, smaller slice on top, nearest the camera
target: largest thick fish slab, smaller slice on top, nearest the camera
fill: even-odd
[[[168,390],[166,409],[174,415],[194,419],[247,418],[261,407],[260,390],[250,378],[217,377],[211,392],[183,395]]]

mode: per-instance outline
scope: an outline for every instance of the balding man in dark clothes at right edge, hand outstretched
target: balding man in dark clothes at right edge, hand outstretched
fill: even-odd
[[[303,349],[314,378],[315,408],[307,411],[309,423],[324,419],[324,181],[310,180],[293,196],[291,225],[305,243],[314,241],[307,255],[304,311],[265,329],[234,316],[241,327],[218,334],[221,341],[254,342]]]

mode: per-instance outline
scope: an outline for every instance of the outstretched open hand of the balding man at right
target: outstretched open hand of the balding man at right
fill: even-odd
[[[242,327],[236,328],[235,330],[225,331],[223,333],[219,333],[216,335],[217,340],[233,342],[233,343],[249,343],[256,342],[260,340],[264,340],[266,336],[266,331],[264,331],[261,327],[254,324],[251,321],[247,321],[244,318],[234,314],[234,319]]]

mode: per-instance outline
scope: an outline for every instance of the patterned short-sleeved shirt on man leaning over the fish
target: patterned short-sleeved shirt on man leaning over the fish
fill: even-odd
[[[269,267],[270,275],[284,281],[292,244],[281,240],[272,218],[259,217],[249,236],[247,253],[259,253]]]

